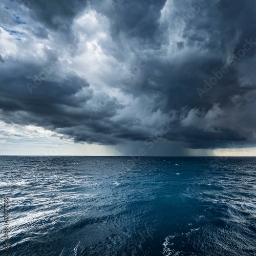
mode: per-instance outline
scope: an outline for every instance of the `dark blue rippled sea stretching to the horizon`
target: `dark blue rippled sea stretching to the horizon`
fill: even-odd
[[[1,255],[256,255],[256,158],[0,161]]]

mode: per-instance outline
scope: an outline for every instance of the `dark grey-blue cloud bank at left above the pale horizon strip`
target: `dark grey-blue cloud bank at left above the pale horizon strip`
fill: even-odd
[[[116,140],[109,137],[113,130],[108,123],[122,106],[115,99],[108,99],[104,109],[95,115],[94,107],[90,105],[95,97],[88,81],[73,72],[62,77],[59,70],[55,70],[39,83],[38,78],[44,70],[42,66],[49,67],[51,58],[44,65],[9,59],[10,64],[1,70],[2,120],[45,127],[77,142],[113,144]],[[37,83],[38,87],[32,88],[30,94],[28,84]],[[100,98],[95,100],[98,102]]]

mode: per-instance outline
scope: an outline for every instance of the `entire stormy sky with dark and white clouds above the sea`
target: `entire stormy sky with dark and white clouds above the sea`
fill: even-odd
[[[2,0],[0,155],[256,156],[255,13]]]

